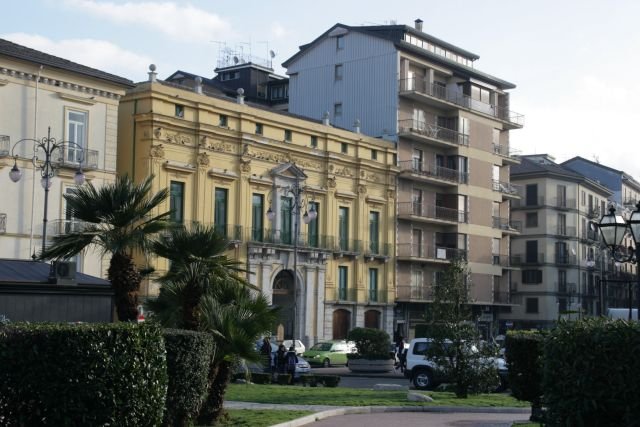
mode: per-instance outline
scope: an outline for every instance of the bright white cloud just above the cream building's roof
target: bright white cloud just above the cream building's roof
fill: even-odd
[[[128,78],[132,75],[144,75],[149,64],[153,62],[145,55],[122,49],[105,40],[54,41],[38,34],[26,33],[4,34],[1,37],[50,55]]]

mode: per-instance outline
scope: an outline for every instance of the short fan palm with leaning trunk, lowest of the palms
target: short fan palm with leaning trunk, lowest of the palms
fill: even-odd
[[[200,301],[201,329],[213,334],[216,352],[209,370],[209,393],[198,423],[215,424],[222,414],[224,394],[238,358],[257,362],[256,339],[269,333],[278,319],[278,309],[261,294],[225,281]]]

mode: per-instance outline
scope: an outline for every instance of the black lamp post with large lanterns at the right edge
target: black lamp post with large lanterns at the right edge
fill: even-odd
[[[625,219],[621,215],[616,215],[616,208],[612,205],[609,207],[609,213],[603,215],[598,224],[602,240],[604,244],[611,250],[613,258],[617,262],[629,262],[636,264],[636,288],[637,288],[637,304],[638,314],[640,315],[640,201],[636,204],[636,209],[631,212],[629,219]],[[622,241],[627,233],[631,233],[633,245],[627,248],[627,253],[622,253]],[[629,284],[629,320],[632,319],[632,297],[631,284]]]

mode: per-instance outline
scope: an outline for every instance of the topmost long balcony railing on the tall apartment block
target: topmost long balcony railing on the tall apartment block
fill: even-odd
[[[479,113],[495,117],[499,120],[507,121],[517,126],[524,125],[524,116],[522,114],[510,111],[504,107],[478,101],[469,95],[464,95],[457,91],[450,91],[439,84],[428,84],[426,79],[415,77],[400,79],[400,92],[418,92],[456,104],[462,108],[477,111]]]

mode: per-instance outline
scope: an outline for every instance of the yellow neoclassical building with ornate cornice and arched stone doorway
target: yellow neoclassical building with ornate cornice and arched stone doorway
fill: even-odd
[[[174,221],[227,236],[248,280],[281,307],[281,338],[309,345],[356,326],[392,333],[395,145],[203,92],[153,72],[128,91],[118,172],[153,174],[154,190],[170,189],[163,209]],[[157,292],[153,281],[142,290]]]

